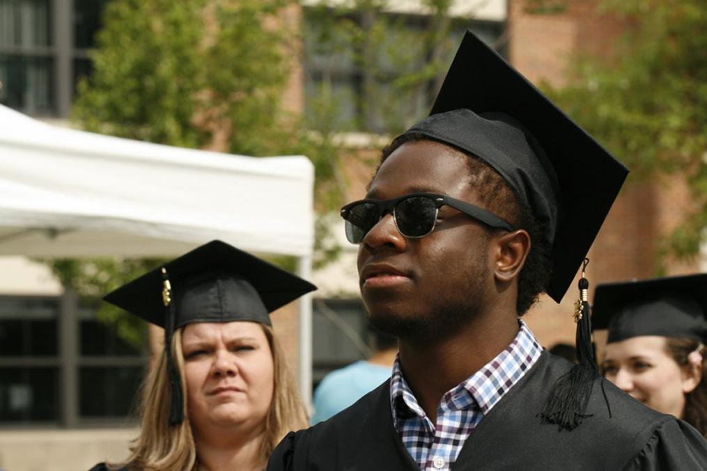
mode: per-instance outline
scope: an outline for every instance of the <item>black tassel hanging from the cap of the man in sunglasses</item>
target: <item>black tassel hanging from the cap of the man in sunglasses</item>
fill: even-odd
[[[540,414],[544,423],[556,424],[560,430],[571,431],[579,426],[583,419],[590,417],[585,411],[592,395],[592,386],[595,380],[600,378],[592,346],[592,321],[587,301],[589,281],[584,273],[588,263],[589,260],[585,259],[582,278],[579,281],[580,299],[575,303],[575,349],[578,364],[555,382]]]

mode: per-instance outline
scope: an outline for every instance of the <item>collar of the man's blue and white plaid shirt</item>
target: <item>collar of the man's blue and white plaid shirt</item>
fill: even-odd
[[[503,395],[518,383],[542,353],[542,347],[530,328],[522,320],[518,320],[518,323],[518,334],[508,347],[479,371],[446,392],[441,401],[443,407],[454,408],[462,404],[462,409],[478,407],[483,414],[488,414]],[[472,400],[463,399],[464,396],[468,399],[469,395]],[[396,429],[399,420],[414,415],[426,417],[402,374],[399,357],[395,358],[390,377],[390,406]]]

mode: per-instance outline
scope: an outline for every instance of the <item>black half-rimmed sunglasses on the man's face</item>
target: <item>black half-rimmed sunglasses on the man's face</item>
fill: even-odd
[[[437,213],[445,204],[486,226],[513,231],[509,223],[486,209],[434,193],[410,193],[386,200],[361,199],[341,208],[341,217],[346,221],[346,238],[352,244],[363,242],[368,231],[390,212],[399,233],[407,238],[421,238],[434,231]]]

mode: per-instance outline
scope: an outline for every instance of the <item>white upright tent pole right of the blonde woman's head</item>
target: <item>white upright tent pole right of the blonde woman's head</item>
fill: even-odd
[[[312,255],[303,255],[297,259],[297,274],[307,280],[312,279]],[[298,379],[300,395],[305,407],[312,405],[312,295],[300,298],[299,319],[299,361]]]

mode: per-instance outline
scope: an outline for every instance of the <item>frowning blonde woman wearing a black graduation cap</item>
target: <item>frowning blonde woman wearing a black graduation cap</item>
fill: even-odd
[[[165,327],[123,463],[93,470],[263,470],[307,426],[269,313],[314,285],[218,240],[105,300]]]

